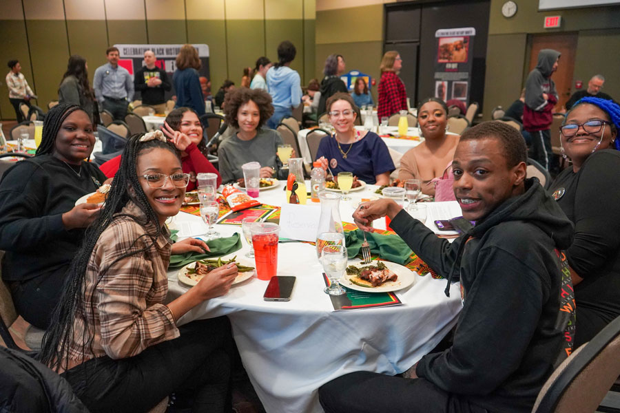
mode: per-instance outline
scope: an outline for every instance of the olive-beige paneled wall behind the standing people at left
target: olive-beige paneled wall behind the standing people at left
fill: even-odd
[[[71,54],[81,54],[90,79],[116,43],[206,43],[214,92],[259,56],[277,59],[280,41],[297,47],[291,67],[307,83],[315,72],[316,0],[1,0],[0,60],[18,59],[46,109]],[[0,118],[14,119],[4,75]]]

